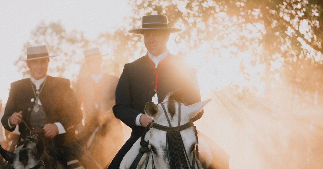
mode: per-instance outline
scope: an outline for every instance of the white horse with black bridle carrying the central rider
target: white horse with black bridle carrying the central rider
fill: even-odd
[[[187,106],[179,98],[170,93],[160,104],[146,104],[145,113],[153,117],[151,128],[124,156],[120,169],[208,168],[212,154],[206,143],[197,136],[192,118],[198,116],[198,112],[211,99]]]

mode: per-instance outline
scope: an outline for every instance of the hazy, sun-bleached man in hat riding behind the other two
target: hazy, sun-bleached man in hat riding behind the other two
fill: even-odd
[[[78,79],[75,89],[83,105],[84,126],[76,137],[101,166],[107,166],[122,146],[124,133],[112,112],[119,77],[103,72],[102,56],[99,48],[84,51],[88,75]]]

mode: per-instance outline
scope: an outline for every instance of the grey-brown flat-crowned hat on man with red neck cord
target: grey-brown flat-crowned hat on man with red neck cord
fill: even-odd
[[[145,15],[142,16],[142,24],[139,29],[131,29],[128,32],[132,34],[143,34],[148,30],[164,30],[169,33],[180,32],[182,29],[169,28],[166,15]]]

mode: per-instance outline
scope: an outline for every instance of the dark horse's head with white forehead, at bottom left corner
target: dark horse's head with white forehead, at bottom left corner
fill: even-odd
[[[0,147],[0,154],[11,164],[13,168],[29,169],[44,168],[40,159],[44,150],[44,142],[38,139],[37,135],[29,136],[24,144],[17,147],[15,153],[4,150]]]

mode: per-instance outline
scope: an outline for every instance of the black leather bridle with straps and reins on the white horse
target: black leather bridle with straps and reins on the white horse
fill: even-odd
[[[167,122],[168,122],[169,126],[160,125],[160,124],[157,124],[157,123],[155,123],[153,121],[150,124],[147,125],[147,127],[145,128],[144,133],[141,136],[141,142],[140,142],[141,148],[139,149],[139,154],[137,155],[137,157],[135,158],[135,160],[131,164],[130,169],[134,169],[134,168],[137,167],[137,165],[138,165],[138,163],[139,163],[139,161],[140,161],[140,159],[141,159],[141,157],[142,157],[142,155],[144,153],[151,153],[151,148],[148,147],[149,143],[145,141],[145,135],[149,131],[150,127],[153,127],[153,128],[155,128],[157,130],[166,131],[166,132],[179,132],[179,131],[185,130],[185,129],[189,128],[189,127],[192,127],[192,126],[194,127],[194,133],[195,133],[195,137],[196,137],[196,144],[195,144],[195,148],[194,148],[192,165],[190,164],[190,161],[188,159],[186,150],[184,150],[184,152],[185,152],[186,160],[187,160],[188,164],[190,165],[191,169],[195,168],[194,167],[195,162],[198,159],[198,137],[197,137],[196,126],[194,126],[193,121],[189,121],[188,123],[181,125],[181,103],[178,102],[178,126],[173,127],[170,120],[169,120],[169,117],[167,115],[167,112],[166,112],[164,104],[163,103],[160,103],[160,104],[161,104],[161,106],[162,106],[162,108],[164,110],[164,114],[166,116],[166,119],[167,119]],[[183,140],[180,140],[180,141],[183,142]],[[151,154],[151,158],[152,158],[151,159],[151,168],[156,168],[155,165],[154,165],[154,160],[153,160],[152,154]],[[148,154],[147,154],[147,158],[146,158],[145,168],[147,168],[147,165],[148,165]],[[197,168],[199,168],[198,165],[197,165]]]

